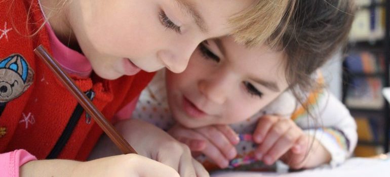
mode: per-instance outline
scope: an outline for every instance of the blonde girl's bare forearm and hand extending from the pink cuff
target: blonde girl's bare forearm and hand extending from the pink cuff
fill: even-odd
[[[20,167],[20,176],[140,176],[179,177],[171,167],[146,157],[127,154],[88,162],[33,160]]]

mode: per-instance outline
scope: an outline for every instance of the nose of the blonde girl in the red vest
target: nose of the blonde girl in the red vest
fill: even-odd
[[[168,49],[157,52],[157,57],[169,70],[180,73],[187,67],[189,58],[198,45],[199,42],[196,41],[176,43]]]

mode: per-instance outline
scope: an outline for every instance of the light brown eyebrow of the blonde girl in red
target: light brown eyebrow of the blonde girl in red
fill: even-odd
[[[195,23],[198,25],[202,32],[208,32],[208,27],[205,23],[205,20],[202,18],[201,14],[193,4],[191,4],[187,0],[176,0],[176,2],[185,12],[189,13],[192,16],[192,18],[195,20]]]

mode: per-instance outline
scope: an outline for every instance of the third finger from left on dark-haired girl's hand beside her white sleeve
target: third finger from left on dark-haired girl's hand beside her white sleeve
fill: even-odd
[[[295,128],[290,128],[286,133],[279,138],[279,140],[264,156],[263,161],[267,165],[275,163],[283,154],[285,154],[295,142],[299,139],[301,132],[296,131]]]

